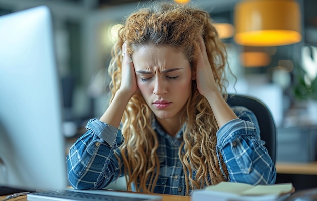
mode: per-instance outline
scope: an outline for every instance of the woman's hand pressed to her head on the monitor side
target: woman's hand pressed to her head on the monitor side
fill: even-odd
[[[121,85],[118,92],[124,92],[132,97],[138,91],[138,86],[133,62],[130,55],[127,53],[127,44],[125,42],[122,45],[122,56]]]

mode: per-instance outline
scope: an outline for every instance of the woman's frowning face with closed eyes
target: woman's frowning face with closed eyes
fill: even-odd
[[[139,90],[156,117],[178,115],[195,78],[185,54],[170,47],[146,45],[132,55],[132,60]]]

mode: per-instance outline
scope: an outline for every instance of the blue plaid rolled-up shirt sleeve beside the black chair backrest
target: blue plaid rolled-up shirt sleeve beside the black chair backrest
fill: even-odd
[[[231,182],[274,184],[275,165],[260,140],[258,122],[250,110],[232,108],[238,119],[223,125],[217,132],[217,146],[229,173]]]

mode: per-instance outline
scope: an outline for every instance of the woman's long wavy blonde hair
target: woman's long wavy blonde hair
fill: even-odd
[[[151,2],[148,8],[141,8],[128,16],[118,32],[119,39],[112,48],[108,69],[112,78],[112,98],[121,83],[123,42],[127,43],[127,52],[130,55],[148,44],[174,47],[185,53],[194,71],[200,35],[205,41],[213,71],[210,76],[214,76],[220,92],[226,94],[227,53],[209,14],[186,5]],[[209,103],[197,90],[196,81],[192,81],[192,92],[183,107],[180,120],[186,122],[183,142],[179,148],[179,159],[185,172],[186,192],[224,181],[216,155],[216,132],[219,128]],[[137,191],[153,192],[157,182],[160,172],[159,157],[156,153],[159,140],[151,123],[151,109],[141,94],[135,94],[128,102],[122,117],[125,142],[120,147],[123,159],[121,165],[124,165],[128,190],[131,190],[131,184],[135,183]],[[225,174],[228,174],[225,164],[221,164]]]

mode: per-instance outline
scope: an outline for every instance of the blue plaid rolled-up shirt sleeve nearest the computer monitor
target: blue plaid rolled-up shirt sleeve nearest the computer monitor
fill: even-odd
[[[86,129],[67,155],[68,181],[75,189],[101,189],[121,172],[114,152],[124,138],[120,129],[97,119],[89,120]]]

